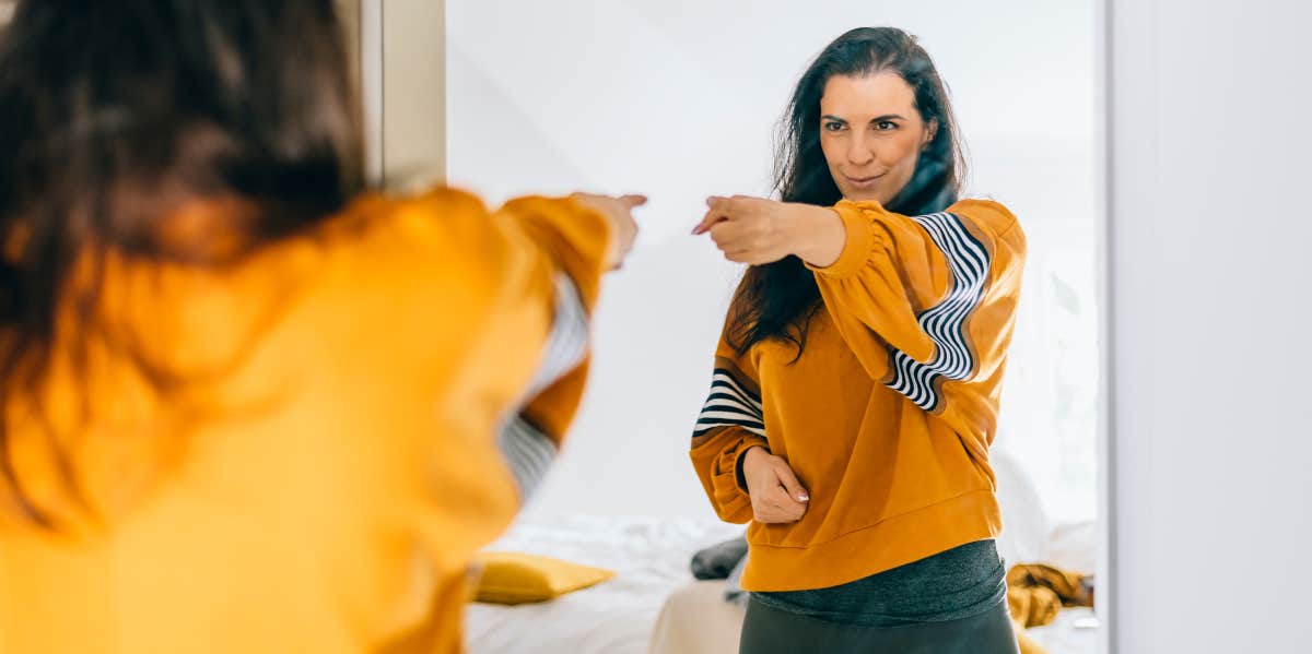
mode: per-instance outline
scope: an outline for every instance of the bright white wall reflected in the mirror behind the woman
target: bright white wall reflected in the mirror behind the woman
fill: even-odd
[[[449,0],[453,183],[492,202],[652,197],[598,309],[584,410],[531,509],[712,516],[686,450],[737,269],[687,231],[708,194],[769,193],[775,121],[813,55],[850,28],[896,25],[953,89],[972,187],[1030,235],[1000,447],[1029,459],[1046,499],[1089,516],[1093,16],[1092,0]],[[1063,498],[1067,478],[1078,488]]]

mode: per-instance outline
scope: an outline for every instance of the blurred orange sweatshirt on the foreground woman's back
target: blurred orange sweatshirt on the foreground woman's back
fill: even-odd
[[[437,190],[224,269],[112,253],[85,375],[68,308],[0,414],[59,526],[0,491],[0,651],[458,651],[468,562],[580,398],[609,239],[571,201]]]

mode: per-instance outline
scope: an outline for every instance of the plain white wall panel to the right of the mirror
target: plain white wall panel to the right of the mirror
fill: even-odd
[[[1309,651],[1300,0],[1111,0],[1117,651]]]

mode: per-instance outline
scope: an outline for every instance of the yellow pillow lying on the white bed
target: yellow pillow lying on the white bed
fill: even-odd
[[[615,575],[601,567],[518,552],[480,552],[474,565],[482,567],[475,599],[491,604],[546,602]]]

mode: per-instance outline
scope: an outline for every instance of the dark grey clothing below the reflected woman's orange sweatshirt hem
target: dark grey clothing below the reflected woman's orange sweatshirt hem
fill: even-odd
[[[992,540],[850,583],[753,592],[740,654],[1017,654],[1006,566]]]

